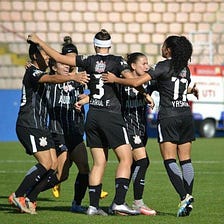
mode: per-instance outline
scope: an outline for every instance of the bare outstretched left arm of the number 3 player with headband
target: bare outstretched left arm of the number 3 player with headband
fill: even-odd
[[[50,57],[54,58],[55,61],[71,66],[76,66],[76,56],[60,54],[49,45],[47,45],[47,43],[41,40],[36,34],[29,34],[27,42],[38,44]]]

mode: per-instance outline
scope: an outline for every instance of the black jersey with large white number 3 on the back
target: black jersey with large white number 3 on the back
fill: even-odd
[[[118,98],[119,85],[104,83],[101,74],[109,71],[120,77],[121,72],[128,68],[127,62],[121,56],[96,54],[77,56],[76,65],[82,67],[90,75],[88,83],[90,109],[121,113],[121,104]]]

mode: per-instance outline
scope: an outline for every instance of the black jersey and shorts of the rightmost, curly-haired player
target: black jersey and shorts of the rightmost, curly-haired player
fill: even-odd
[[[191,82],[189,68],[175,74],[171,60],[167,59],[150,68],[148,73],[157,80],[160,94],[158,142],[183,144],[195,140],[193,116],[187,100]]]

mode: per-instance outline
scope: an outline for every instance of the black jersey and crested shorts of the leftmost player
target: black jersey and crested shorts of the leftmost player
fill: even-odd
[[[22,82],[21,104],[16,121],[18,139],[27,154],[54,148],[47,127],[46,86],[38,83],[45,74],[35,66],[26,69]]]

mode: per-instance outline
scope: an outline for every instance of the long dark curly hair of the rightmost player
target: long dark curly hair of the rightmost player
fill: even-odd
[[[171,64],[174,72],[178,74],[187,67],[188,61],[191,59],[192,44],[185,36],[169,36],[164,44],[171,51]]]

